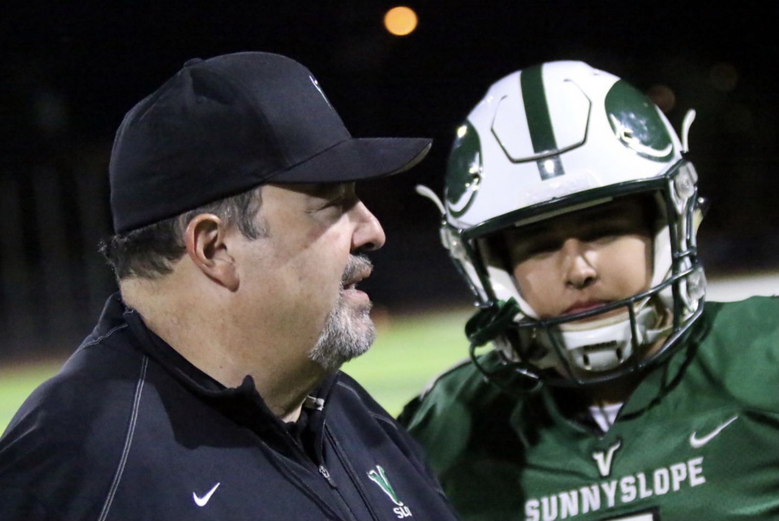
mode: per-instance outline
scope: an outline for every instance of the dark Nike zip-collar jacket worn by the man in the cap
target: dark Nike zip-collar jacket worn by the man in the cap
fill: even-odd
[[[338,373],[284,424],[115,295],[0,438],[0,519],[455,519],[405,431]],[[412,517],[413,516],[413,517]]]

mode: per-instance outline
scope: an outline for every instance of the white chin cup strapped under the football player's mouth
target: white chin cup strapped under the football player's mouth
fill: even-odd
[[[568,358],[572,368],[585,371],[608,371],[619,367],[633,354],[633,335],[636,335],[636,345],[651,343],[657,339],[661,331],[650,329],[657,324],[657,312],[654,306],[640,304],[636,313],[636,331],[630,324],[629,313],[589,322],[563,323],[548,330],[547,335],[541,335],[541,343],[548,349],[553,349],[552,343],[564,347],[561,356]],[[554,335],[552,340],[549,336]]]

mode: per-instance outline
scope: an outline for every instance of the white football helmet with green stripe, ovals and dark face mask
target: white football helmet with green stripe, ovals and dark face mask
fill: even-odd
[[[481,307],[467,328],[471,352],[492,340],[500,371],[567,384],[618,378],[667,355],[700,315],[705,292],[695,241],[701,199],[685,152],[647,97],[583,62],[545,63],[494,83],[457,129],[442,205],[442,240]],[[650,291],[605,306],[623,308],[617,321],[538,319],[489,238],[640,192],[661,216]],[[652,357],[643,354],[663,337]],[[560,364],[568,377],[545,371]]]

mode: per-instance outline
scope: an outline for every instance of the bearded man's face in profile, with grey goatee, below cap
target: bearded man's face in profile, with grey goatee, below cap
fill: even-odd
[[[335,371],[368,350],[371,301],[355,284],[372,266],[359,254],[385,237],[354,183],[266,185],[258,219],[267,236],[246,242],[241,263],[247,322],[273,332],[291,364]]]

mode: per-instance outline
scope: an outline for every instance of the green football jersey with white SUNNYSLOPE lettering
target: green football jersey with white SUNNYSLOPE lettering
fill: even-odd
[[[708,302],[693,327],[607,432],[575,389],[513,398],[472,363],[401,419],[464,519],[779,519],[779,299]]]

